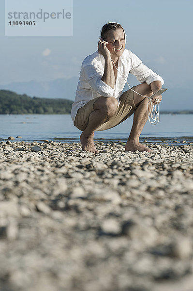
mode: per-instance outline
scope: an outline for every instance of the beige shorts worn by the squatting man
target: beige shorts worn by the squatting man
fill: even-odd
[[[135,86],[132,87],[133,90],[134,88]],[[89,115],[92,111],[94,111],[93,105],[98,98],[100,97],[90,100],[87,104],[78,110],[74,120],[74,126],[77,127],[77,129],[80,129],[81,131],[86,129],[89,122]],[[104,122],[104,124],[100,125],[95,131],[111,129],[134,113],[136,106],[134,105],[134,92],[131,89],[124,92],[120,96],[119,101],[120,104],[113,117]]]

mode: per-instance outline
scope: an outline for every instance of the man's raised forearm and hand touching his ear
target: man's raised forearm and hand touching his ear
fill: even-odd
[[[101,78],[105,84],[109,85],[112,89],[115,87],[115,75],[113,71],[113,65],[111,62],[110,51],[106,47],[107,42],[100,39],[98,43],[98,51],[104,56],[104,74]]]

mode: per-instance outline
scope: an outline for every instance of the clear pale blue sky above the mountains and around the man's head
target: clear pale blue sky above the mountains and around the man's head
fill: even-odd
[[[164,86],[192,88],[192,13],[193,0],[74,0],[73,36],[14,37],[4,36],[0,0],[0,84],[78,77],[83,59],[97,50],[101,27],[115,21],[126,31],[126,49]]]

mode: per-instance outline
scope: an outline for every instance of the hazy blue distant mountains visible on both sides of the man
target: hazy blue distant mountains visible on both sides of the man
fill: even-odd
[[[74,100],[78,78],[56,79],[54,81],[12,82],[0,85],[0,89],[27,94],[31,97],[65,98]],[[165,85],[163,85],[165,87]],[[126,85],[124,91],[128,90]],[[193,90],[186,88],[170,89],[163,93],[160,111],[193,110]]]

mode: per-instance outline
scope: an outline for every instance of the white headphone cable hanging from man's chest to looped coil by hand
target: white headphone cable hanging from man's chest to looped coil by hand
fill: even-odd
[[[111,59],[111,61],[113,62],[112,59]],[[118,68],[116,67],[116,65],[115,65],[114,62],[113,62],[113,65],[115,66],[115,68],[116,68],[117,71],[119,72],[119,70],[118,70]],[[120,72],[119,72],[119,74],[120,74],[121,77],[123,78],[123,74],[120,73]],[[142,96],[142,97],[146,97],[146,98],[147,98],[147,96],[141,95],[140,93],[134,91],[134,90],[130,87],[129,83],[127,82],[127,80],[126,80],[125,78],[123,78],[123,80],[126,81],[127,85],[129,86],[129,88],[130,88],[133,92],[135,92],[136,94],[138,94],[138,95],[140,95],[140,96]],[[158,106],[157,110],[156,110],[156,104],[152,104],[151,100],[148,101],[148,104],[149,104],[149,102],[151,103],[151,107],[150,107],[150,111],[148,111],[148,105],[147,105],[148,121],[149,121],[149,123],[150,123],[151,125],[156,125],[156,124],[158,124],[158,122],[160,121],[160,114],[159,114],[159,101],[158,101],[158,99],[157,99],[157,106]],[[152,107],[152,105],[153,105],[153,107]],[[153,114],[153,113],[154,113],[154,114]],[[153,115],[154,115],[154,117],[153,117]],[[151,118],[151,119],[150,119],[150,118]],[[151,120],[152,120],[152,121],[151,121]],[[155,122],[156,122],[156,123],[155,123]]]

